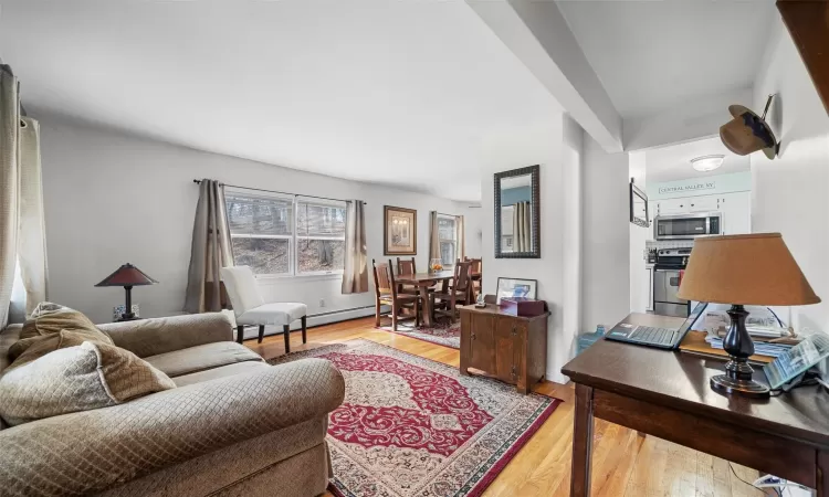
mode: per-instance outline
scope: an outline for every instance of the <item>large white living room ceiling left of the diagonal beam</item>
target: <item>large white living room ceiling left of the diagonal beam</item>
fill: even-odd
[[[560,113],[462,1],[3,1],[0,56],[35,110],[455,200]]]

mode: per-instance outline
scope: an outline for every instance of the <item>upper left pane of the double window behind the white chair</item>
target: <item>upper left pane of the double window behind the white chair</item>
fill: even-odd
[[[290,235],[293,203],[275,197],[255,197],[230,193],[228,222],[233,234]]]

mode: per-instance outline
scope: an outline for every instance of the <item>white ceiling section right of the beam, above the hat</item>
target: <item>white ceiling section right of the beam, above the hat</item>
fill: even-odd
[[[557,0],[623,117],[749,87],[774,0]]]

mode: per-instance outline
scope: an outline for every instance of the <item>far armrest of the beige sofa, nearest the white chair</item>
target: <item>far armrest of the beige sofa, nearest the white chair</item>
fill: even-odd
[[[233,328],[228,317],[221,313],[107,322],[97,327],[108,334],[116,346],[138,357],[156,356],[214,341],[233,341]]]

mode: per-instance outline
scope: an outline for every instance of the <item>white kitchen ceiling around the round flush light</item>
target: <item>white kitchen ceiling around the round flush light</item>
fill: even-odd
[[[748,156],[732,154],[720,137],[670,147],[653,148],[644,152],[646,182],[648,184],[664,181],[676,181],[690,178],[704,178],[730,172],[749,171],[752,169]],[[700,172],[691,167],[691,159],[711,155],[723,155],[723,165],[713,171]]]

